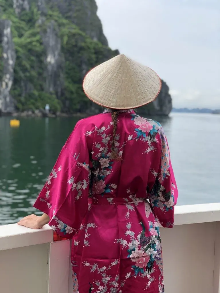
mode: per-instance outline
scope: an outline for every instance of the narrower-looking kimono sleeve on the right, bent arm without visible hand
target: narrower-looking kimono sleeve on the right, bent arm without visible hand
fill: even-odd
[[[149,201],[163,227],[174,225],[174,206],[177,203],[178,190],[170,161],[167,139],[161,127],[161,158],[155,184],[150,191]]]

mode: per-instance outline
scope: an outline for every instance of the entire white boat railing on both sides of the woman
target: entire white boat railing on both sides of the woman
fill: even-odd
[[[165,292],[220,293],[220,203],[177,206],[175,227],[160,231]],[[73,291],[70,241],[53,242],[48,225],[0,226],[0,270],[0,292]]]

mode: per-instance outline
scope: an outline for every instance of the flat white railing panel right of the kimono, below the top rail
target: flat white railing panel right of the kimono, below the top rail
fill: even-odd
[[[216,223],[181,225],[160,231],[165,292],[213,292]]]

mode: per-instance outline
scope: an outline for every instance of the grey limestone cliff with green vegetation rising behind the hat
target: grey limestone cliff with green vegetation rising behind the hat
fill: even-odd
[[[88,100],[82,80],[92,67],[119,54],[108,47],[95,0],[0,1],[0,111],[42,109],[88,114],[101,108]],[[163,83],[141,113],[171,110]]]

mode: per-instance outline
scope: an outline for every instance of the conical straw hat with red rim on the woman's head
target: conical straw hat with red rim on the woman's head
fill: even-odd
[[[132,109],[153,101],[161,80],[149,67],[118,55],[92,69],[83,90],[94,103],[113,109]]]

